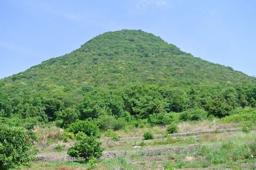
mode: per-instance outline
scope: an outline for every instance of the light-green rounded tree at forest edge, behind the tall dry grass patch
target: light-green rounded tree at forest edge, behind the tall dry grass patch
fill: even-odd
[[[74,108],[66,108],[59,112],[56,112],[57,119],[62,119],[61,127],[67,127],[68,124],[73,123],[78,119],[79,111]]]

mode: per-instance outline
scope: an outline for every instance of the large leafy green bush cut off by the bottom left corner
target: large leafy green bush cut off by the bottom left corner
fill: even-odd
[[[0,169],[14,169],[30,165],[35,157],[26,141],[24,128],[0,125]]]

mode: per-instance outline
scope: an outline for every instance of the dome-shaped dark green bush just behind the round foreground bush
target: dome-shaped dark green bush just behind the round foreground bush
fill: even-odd
[[[77,134],[78,132],[84,132],[87,136],[100,137],[100,130],[97,125],[87,120],[79,120],[71,123],[66,131],[73,132],[74,134]]]

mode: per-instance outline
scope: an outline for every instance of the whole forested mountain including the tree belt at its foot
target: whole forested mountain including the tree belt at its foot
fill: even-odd
[[[148,118],[191,108],[223,117],[254,107],[255,99],[255,78],[141,30],[100,34],[70,54],[0,80],[2,121],[54,121],[67,108],[79,110],[80,119]]]

